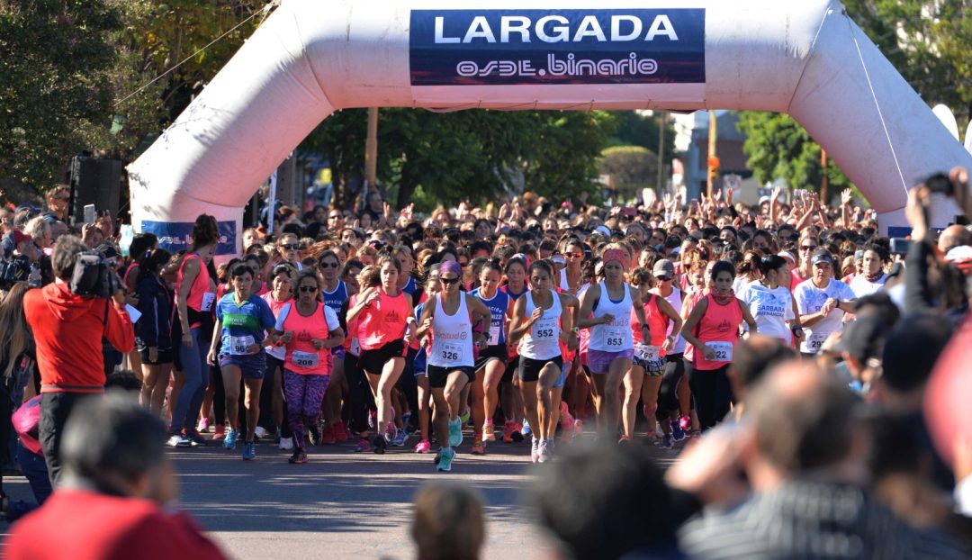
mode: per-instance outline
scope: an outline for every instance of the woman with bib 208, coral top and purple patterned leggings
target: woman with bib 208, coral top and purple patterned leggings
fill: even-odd
[[[299,465],[307,462],[304,425],[317,426],[330,381],[330,350],[344,343],[344,331],[334,310],[318,300],[321,281],[314,270],[301,270],[295,284],[296,302],[280,309],[271,339],[287,347],[284,391],[295,444],[288,462]]]

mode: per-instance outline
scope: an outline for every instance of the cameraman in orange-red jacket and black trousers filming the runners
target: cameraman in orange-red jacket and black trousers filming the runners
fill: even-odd
[[[124,310],[121,283],[105,285],[115,287],[111,297],[75,293],[92,292],[90,286],[82,285],[87,275],[79,279],[75,274],[76,264],[84,266],[79,272],[90,268],[93,256],[82,255],[86,251],[81,239],[72,235],[59,237],[51,259],[54,282],[40,290],[31,290],[23,299],[41,372],[40,439],[54,483],[61,471],[61,433],[71,409],[82,397],[104,392],[102,336],[121,352],[130,351],[135,343],[131,320]],[[85,262],[80,262],[80,257]],[[94,259],[99,267],[104,266],[100,258]],[[111,278],[107,271],[100,272],[104,273],[99,279]],[[105,286],[100,286],[100,290],[105,290]],[[95,287],[95,293],[98,288]]]

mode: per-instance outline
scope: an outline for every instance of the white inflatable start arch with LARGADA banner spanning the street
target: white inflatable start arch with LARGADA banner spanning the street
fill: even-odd
[[[788,113],[882,227],[907,188],[972,157],[833,0],[283,0],[128,168],[132,219],[179,248],[200,213],[239,250],[242,208],[337,109]],[[954,212],[938,212],[944,225]]]

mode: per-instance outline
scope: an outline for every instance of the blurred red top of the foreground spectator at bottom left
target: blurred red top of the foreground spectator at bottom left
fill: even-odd
[[[188,515],[156,504],[64,489],[13,526],[11,560],[222,560]]]

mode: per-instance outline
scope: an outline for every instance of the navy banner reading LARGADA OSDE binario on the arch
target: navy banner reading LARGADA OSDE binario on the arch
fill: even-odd
[[[704,84],[706,11],[412,10],[412,86]]]

